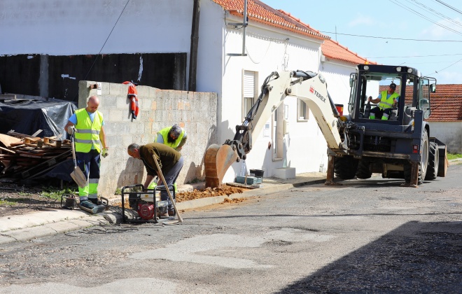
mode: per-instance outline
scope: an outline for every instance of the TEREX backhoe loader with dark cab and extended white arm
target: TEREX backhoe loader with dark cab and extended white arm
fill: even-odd
[[[391,83],[397,85],[398,102],[388,109],[388,117],[374,118],[369,97],[376,98]],[[430,137],[430,126],[424,120],[430,116],[435,78],[422,77],[418,70],[407,66],[359,64],[350,75],[350,86],[349,114],[340,116],[321,74],[272,72],[244,123],[236,126],[234,139],[207,149],[206,186],[220,187],[230,165],[246,159],[252,141],[287,96],[307,104],[323,133],[328,145],[328,185],[337,184],[334,175],[346,180],[355,176],[368,179],[372,173],[381,173],[384,178],[405,179],[402,186],[417,187],[423,180],[446,175],[446,146]],[[375,105],[382,106],[382,101]]]

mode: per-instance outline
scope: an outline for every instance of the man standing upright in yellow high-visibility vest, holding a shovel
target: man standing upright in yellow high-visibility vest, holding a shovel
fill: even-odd
[[[104,119],[98,106],[98,97],[88,98],[87,107],[76,110],[64,126],[66,132],[75,136],[77,165],[88,179],[85,188],[78,187],[80,204],[84,201],[98,204],[99,165],[101,156],[108,155]]]

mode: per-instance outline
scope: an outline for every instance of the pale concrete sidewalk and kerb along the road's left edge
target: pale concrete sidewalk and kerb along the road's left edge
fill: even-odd
[[[229,196],[207,197],[179,202],[176,204],[176,208],[181,211],[221,203],[225,201],[225,198],[236,199],[267,195],[294,187],[324,183],[325,177],[325,173],[310,172],[297,174],[295,179],[263,178],[260,188],[246,190],[243,193],[235,193]],[[194,188],[202,189],[204,188],[204,183],[178,186],[179,192],[191,191]],[[109,200],[110,203],[117,201],[120,201],[120,198]],[[120,214],[115,214],[111,211],[91,215],[80,209],[50,209],[49,211],[34,212],[23,216],[3,216],[0,218],[0,244],[27,241],[34,238],[88,228],[92,225],[120,223],[121,219],[122,216]]]

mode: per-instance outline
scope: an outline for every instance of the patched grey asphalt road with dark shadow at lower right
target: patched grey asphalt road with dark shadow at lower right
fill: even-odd
[[[461,293],[462,165],[0,248],[0,293]]]

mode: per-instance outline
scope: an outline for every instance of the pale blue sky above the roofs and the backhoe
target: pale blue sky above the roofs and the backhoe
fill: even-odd
[[[260,1],[361,57],[412,66],[437,84],[462,84],[461,0]]]

